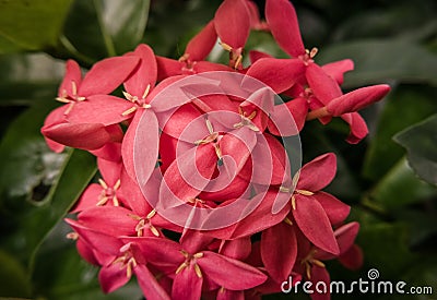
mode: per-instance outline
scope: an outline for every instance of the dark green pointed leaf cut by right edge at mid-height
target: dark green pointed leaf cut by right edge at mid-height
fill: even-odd
[[[437,185],[437,113],[393,136],[408,152],[414,171]]]

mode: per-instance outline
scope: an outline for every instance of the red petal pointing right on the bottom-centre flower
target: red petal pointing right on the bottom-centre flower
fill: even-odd
[[[212,281],[229,290],[249,289],[267,280],[267,276],[258,268],[211,251],[204,251],[198,264]],[[229,274],[233,280],[229,280]]]

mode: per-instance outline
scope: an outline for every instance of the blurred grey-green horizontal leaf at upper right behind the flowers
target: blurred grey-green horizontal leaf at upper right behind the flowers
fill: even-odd
[[[389,80],[437,84],[437,56],[420,45],[402,39],[365,39],[339,43],[323,49],[318,62],[350,58],[355,70],[346,73],[345,87],[376,84]]]

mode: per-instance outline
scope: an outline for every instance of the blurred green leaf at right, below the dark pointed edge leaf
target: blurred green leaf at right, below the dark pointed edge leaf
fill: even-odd
[[[371,201],[392,208],[420,203],[437,196],[437,190],[418,180],[409,167],[406,159],[401,159],[377,184],[369,194]]]

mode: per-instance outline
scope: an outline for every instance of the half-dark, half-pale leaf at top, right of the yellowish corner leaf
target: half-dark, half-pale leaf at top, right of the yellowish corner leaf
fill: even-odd
[[[133,50],[144,35],[149,5],[149,0],[76,0],[62,46],[87,64]]]

